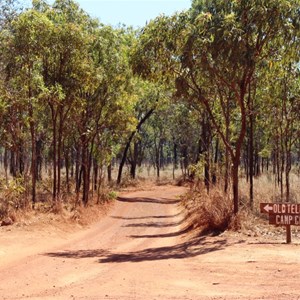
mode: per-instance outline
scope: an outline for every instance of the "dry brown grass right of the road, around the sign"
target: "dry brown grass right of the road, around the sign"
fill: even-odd
[[[180,182],[190,186],[190,183]],[[275,186],[272,175],[264,174],[254,179],[254,205],[250,209],[249,183],[244,178],[240,180],[239,213],[233,216],[231,191],[228,195],[222,192],[223,187],[215,187],[207,194],[201,183],[197,188],[183,197],[183,205],[187,211],[189,225],[199,228],[200,233],[219,233],[229,230],[238,230],[248,236],[272,236],[282,238],[285,229],[268,224],[268,216],[260,213],[260,203],[280,202],[285,199],[280,195],[280,189]],[[297,175],[291,176],[291,201],[300,203],[300,179]],[[294,226],[293,233],[300,236],[299,227]]]

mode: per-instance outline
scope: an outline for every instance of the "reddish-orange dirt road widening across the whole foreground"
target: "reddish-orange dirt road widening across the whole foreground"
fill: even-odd
[[[181,193],[128,193],[75,234],[1,229],[0,299],[300,299],[298,245],[192,238]]]

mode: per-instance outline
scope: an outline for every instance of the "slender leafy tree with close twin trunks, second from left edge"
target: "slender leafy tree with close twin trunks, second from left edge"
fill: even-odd
[[[51,116],[53,199],[61,194],[62,150],[66,138],[66,124],[78,104],[80,86],[89,79],[89,29],[95,22],[71,0],[57,0],[52,6],[45,1],[34,1],[51,26],[48,44],[41,55],[44,81],[43,101]]]

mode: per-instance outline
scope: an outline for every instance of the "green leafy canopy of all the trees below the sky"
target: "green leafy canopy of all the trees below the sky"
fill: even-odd
[[[68,163],[80,193],[132,134],[132,165],[173,159],[203,178],[219,159],[229,172],[229,157],[238,169],[245,156],[250,119],[257,155],[295,157],[298,0],[194,0],[139,31],[101,24],[72,0],[0,4],[0,146],[17,169],[6,165],[6,177],[51,161],[54,187]]]

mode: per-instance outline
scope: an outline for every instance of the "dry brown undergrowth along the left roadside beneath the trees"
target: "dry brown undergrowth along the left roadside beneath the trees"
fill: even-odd
[[[30,199],[30,186],[20,179],[11,179],[8,182],[0,181],[0,226],[2,221],[10,220],[13,223],[27,223],[30,219],[40,215],[47,218],[53,215],[76,222],[80,225],[96,221],[103,215],[106,207],[116,199],[117,192],[112,188],[103,187],[99,193],[91,193],[87,207],[83,207],[80,199],[74,193],[62,192],[62,196],[54,202],[50,186],[40,185],[37,191],[37,202],[32,205]]]

